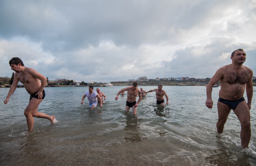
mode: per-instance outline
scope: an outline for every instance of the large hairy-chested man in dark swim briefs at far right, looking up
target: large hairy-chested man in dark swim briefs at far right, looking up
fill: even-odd
[[[217,131],[218,133],[223,132],[224,124],[227,121],[231,109],[233,109],[241,123],[241,145],[245,148],[248,147],[251,139],[250,109],[253,96],[253,71],[243,66],[246,59],[246,53],[243,49],[235,50],[231,54],[230,59],[232,60],[232,64],[219,68],[207,84],[207,100],[205,104],[208,108],[213,107],[213,101],[211,99],[212,87],[219,81],[221,89],[219,90],[217,103],[219,116],[216,124]],[[243,98],[245,90],[248,100],[247,103]]]

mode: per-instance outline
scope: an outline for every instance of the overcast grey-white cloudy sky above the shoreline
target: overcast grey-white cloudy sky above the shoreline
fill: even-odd
[[[255,0],[0,0],[0,77],[12,57],[49,80],[212,77],[242,48],[256,73]]]

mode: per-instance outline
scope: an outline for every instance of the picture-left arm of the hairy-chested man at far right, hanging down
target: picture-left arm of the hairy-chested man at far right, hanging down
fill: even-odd
[[[213,100],[211,98],[211,92],[213,91],[213,85],[215,85],[223,77],[224,69],[225,69],[224,67],[219,68],[206,86],[207,99],[206,99],[205,105],[208,108],[213,108]]]

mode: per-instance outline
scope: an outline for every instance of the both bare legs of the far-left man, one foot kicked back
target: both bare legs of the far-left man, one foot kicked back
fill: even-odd
[[[54,118],[55,118],[54,116],[49,116],[44,113],[37,112],[38,106],[41,102],[42,102],[42,99],[39,100],[36,98],[32,98],[29,101],[29,104],[27,105],[27,107],[24,111],[24,115],[26,116],[26,119],[27,119],[27,126],[28,126],[29,131],[32,131],[33,127],[34,127],[34,118],[33,117],[49,119],[51,121],[51,123],[54,123]]]

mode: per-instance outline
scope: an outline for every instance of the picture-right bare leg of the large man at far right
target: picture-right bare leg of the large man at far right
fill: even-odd
[[[251,123],[250,123],[250,110],[246,101],[242,101],[235,108],[234,113],[237,115],[241,124],[241,145],[248,147],[251,139]]]

